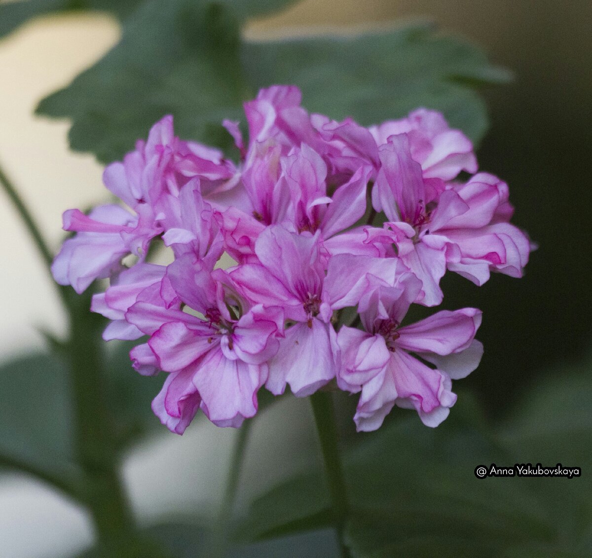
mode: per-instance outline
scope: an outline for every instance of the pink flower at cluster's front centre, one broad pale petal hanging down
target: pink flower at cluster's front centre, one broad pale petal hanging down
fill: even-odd
[[[310,395],[336,374],[333,312],[358,304],[368,276],[394,283],[406,269],[396,258],[342,254],[329,259],[320,231],[296,234],[281,225],[259,235],[255,253],[258,263],[236,267],[231,277],[253,304],[281,307],[294,322],[269,362],[266,387],[278,395],[288,383],[295,395]]]

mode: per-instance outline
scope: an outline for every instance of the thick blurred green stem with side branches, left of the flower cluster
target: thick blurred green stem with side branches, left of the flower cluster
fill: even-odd
[[[30,211],[0,167],[0,185],[7,193],[29,231],[48,270],[52,252],[41,235]],[[75,441],[78,464],[83,470],[83,489],[74,490],[71,480],[62,480],[18,460],[9,465],[46,480],[70,495],[78,496],[94,519],[99,548],[104,556],[126,558],[159,556],[152,546],[144,546],[137,536],[121,479],[118,476],[117,444],[106,408],[104,365],[97,339],[98,330],[89,316],[89,296],[73,297],[69,289],[57,285],[60,299],[69,315],[70,336],[66,343],[72,378],[75,411]]]

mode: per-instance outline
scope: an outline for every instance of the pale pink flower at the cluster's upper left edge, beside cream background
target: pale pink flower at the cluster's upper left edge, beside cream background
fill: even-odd
[[[146,143],[138,141],[123,162],[111,163],[103,173],[107,189],[131,212],[119,205],[99,206],[88,217],[78,209],[65,212],[64,230],[78,234],[66,240],[57,254],[54,279],[81,293],[95,279],[121,272],[127,254],[143,261],[152,238],[179,226],[170,205],[186,182],[201,178],[202,193],[215,200],[236,185],[235,176],[234,166],[220,151],[179,140],[173,134],[172,117],[163,118],[152,127]]]

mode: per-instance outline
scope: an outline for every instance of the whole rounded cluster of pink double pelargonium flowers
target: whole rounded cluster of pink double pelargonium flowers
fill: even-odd
[[[238,165],[179,140],[165,117],[105,169],[125,205],[64,214],[76,235],[54,278],[77,292],[110,279],[91,309],[111,320],[105,340],[148,336],[130,357],[143,375],[168,373],[152,408],[176,433],[198,409],[239,426],[264,385],[307,396],[329,383],[360,393],[358,430],[394,405],[435,427],[456,401],[452,380],[480,362],[481,312],[403,325],[408,308],[440,304],[446,270],[482,285],[528,260],[506,183],[475,174],[471,142],[441,114],[365,128],[300,102],[294,86],[260,91],[244,105],[247,143],[224,121]],[[150,263],[157,244],[170,265]],[[235,265],[217,266],[224,253]]]

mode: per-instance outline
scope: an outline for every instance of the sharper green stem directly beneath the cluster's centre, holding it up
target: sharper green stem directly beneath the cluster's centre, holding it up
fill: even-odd
[[[348,491],[343,476],[339,444],[337,436],[337,421],[331,393],[317,391],[310,396],[313,406],[314,422],[317,425],[318,439],[321,444],[325,476],[329,495],[333,506],[333,517],[339,536],[342,557],[350,556],[348,548],[343,542],[343,531],[349,514]]]

